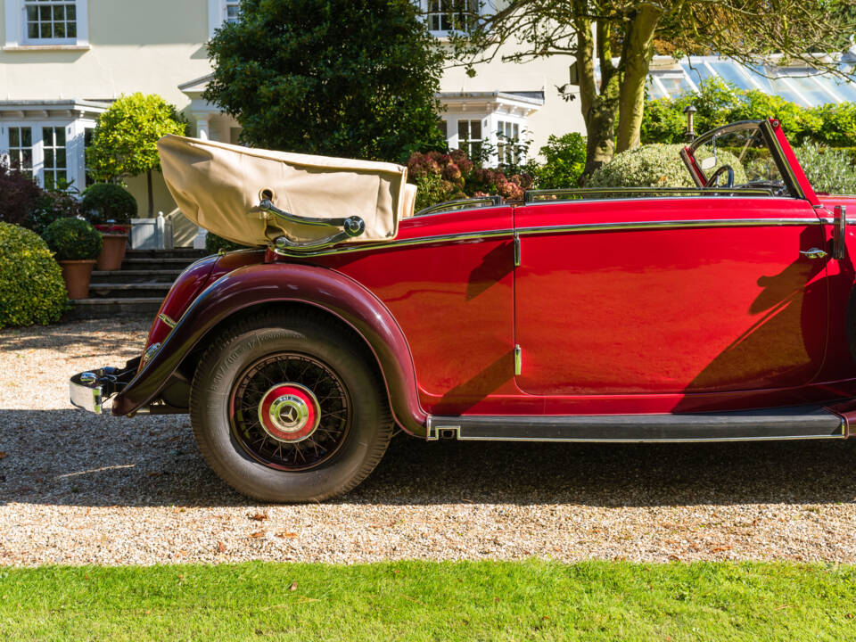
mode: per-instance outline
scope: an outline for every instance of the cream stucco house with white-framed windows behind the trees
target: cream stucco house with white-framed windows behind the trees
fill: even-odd
[[[235,142],[240,124],[203,100],[202,92],[210,74],[205,42],[224,21],[238,20],[239,4],[0,0],[0,154],[20,162],[42,185],[62,177],[83,187],[88,132],[112,100],[137,91],[176,104],[193,136]],[[439,9],[428,21],[436,37],[447,35]],[[555,88],[567,78],[563,59],[494,62],[474,78],[449,70],[440,93],[449,144],[496,145],[502,132],[531,138],[537,150],[550,134],[579,131],[578,103],[564,102]],[[155,183],[155,210],[174,211],[162,180]],[[142,177],[128,184],[144,203]]]

